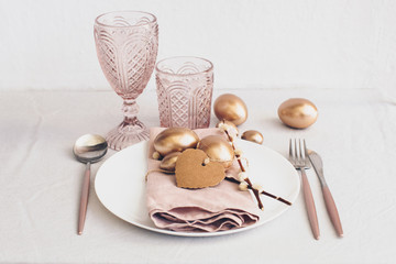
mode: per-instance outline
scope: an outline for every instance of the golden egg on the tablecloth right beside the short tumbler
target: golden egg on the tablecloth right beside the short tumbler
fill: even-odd
[[[248,119],[248,108],[241,98],[231,94],[219,96],[215,101],[215,114],[219,120],[228,120],[240,125]]]

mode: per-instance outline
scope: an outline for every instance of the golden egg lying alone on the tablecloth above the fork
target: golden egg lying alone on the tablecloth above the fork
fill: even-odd
[[[288,127],[306,129],[317,120],[318,109],[307,99],[292,98],[279,106],[278,116]]]

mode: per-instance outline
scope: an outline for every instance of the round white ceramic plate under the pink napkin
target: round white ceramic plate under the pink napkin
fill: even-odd
[[[264,189],[294,202],[299,193],[299,176],[292,164],[268,147],[239,140],[238,147],[249,160],[250,178]],[[127,147],[107,160],[99,168],[95,179],[95,190],[103,206],[117,217],[136,227],[151,231],[182,235],[211,237],[245,231],[257,228],[285,212],[289,207],[261,196],[264,211],[260,221],[246,228],[212,232],[188,233],[158,229],[148,217],[145,201],[144,175],[147,169],[147,142]],[[254,200],[255,202],[255,200]]]

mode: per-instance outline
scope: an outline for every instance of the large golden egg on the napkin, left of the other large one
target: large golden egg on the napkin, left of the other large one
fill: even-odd
[[[169,128],[162,131],[154,140],[154,148],[162,156],[172,152],[183,152],[186,148],[195,148],[198,144],[198,135],[190,129]]]

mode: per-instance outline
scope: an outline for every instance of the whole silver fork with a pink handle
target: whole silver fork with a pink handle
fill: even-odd
[[[312,197],[312,191],[310,189],[308,178],[306,175],[306,169],[310,168],[310,163],[308,158],[308,150],[305,140],[292,140],[289,141],[289,161],[293,166],[300,170],[301,173],[301,183],[302,183],[302,193],[304,193],[304,200],[306,204],[309,223],[314,233],[314,238],[319,240],[320,232],[319,232],[319,223],[318,223],[318,216],[316,212],[315,201]]]

